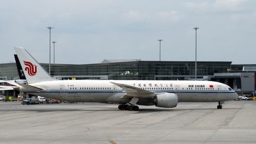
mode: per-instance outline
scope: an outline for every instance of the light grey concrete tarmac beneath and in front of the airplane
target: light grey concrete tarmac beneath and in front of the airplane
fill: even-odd
[[[256,143],[256,101],[139,107],[0,101],[0,143]]]

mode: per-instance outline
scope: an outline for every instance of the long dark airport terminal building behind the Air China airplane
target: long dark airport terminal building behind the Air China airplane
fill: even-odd
[[[49,63],[41,63],[49,71]],[[197,80],[228,84],[237,92],[255,91],[256,65],[232,62],[197,62]],[[194,80],[193,61],[104,60],[101,63],[52,64],[57,79]],[[0,79],[19,79],[16,63],[0,64]]]

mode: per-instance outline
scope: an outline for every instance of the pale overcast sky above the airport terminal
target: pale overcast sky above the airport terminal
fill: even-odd
[[[0,0],[0,63],[14,46],[49,63],[49,30],[56,63],[104,59],[256,63],[254,0]],[[53,45],[52,45],[53,47]]]

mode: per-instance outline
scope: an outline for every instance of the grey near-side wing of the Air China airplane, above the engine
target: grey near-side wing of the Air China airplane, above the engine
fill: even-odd
[[[137,88],[126,84],[119,84],[116,82],[111,83],[117,85],[118,87],[124,89],[124,91],[127,92],[127,94],[124,95],[124,97],[152,98],[156,95],[155,92],[147,91],[146,89]]]

